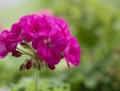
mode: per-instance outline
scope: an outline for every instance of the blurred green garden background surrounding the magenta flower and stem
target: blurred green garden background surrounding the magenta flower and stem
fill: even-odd
[[[0,31],[31,13],[65,19],[82,50],[79,67],[40,71],[40,91],[120,91],[120,0],[0,0]],[[0,91],[34,91],[24,58],[0,60]]]

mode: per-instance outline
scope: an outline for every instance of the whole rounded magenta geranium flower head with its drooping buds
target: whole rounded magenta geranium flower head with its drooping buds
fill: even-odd
[[[14,23],[10,31],[3,30],[0,34],[0,58],[8,53],[15,57],[30,56],[20,70],[32,66],[55,69],[62,58],[65,58],[68,67],[69,63],[78,66],[80,59],[79,44],[70,34],[67,23],[48,15],[26,15]]]

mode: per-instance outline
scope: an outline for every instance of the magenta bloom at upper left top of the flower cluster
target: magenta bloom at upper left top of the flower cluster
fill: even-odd
[[[42,26],[40,25],[40,17],[33,15],[26,15],[19,21],[19,25],[22,27],[22,35],[27,42],[31,42],[33,37],[38,33]]]

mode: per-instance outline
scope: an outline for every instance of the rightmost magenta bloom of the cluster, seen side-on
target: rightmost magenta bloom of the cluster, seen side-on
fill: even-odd
[[[67,61],[68,67],[70,67],[69,62],[74,66],[78,66],[80,60],[80,47],[76,38],[73,37],[69,40],[64,51],[64,57]]]

